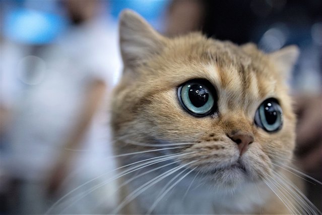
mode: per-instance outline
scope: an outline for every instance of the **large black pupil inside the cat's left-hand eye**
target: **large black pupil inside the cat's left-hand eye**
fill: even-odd
[[[188,95],[191,103],[197,108],[205,105],[209,98],[208,90],[199,84],[191,85]]]

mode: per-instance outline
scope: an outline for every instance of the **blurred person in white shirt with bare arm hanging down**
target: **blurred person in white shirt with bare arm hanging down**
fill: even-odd
[[[43,74],[17,103],[10,131],[11,213],[102,213],[113,202],[102,186],[71,203],[113,170],[106,106],[120,69],[116,26],[101,18],[101,1],[63,1],[71,27],[53,45],[28,56],[32,74]],[[29,62],[29,63],[28,63]],[[37,66],[38,65],[38,66]],[[41,66],[39,66],[41,65]],[[29,65],[30,66],[30,65]],[[9,71],[7,71],[9,72]],[[92,183],[89,180],[99,177]],[[84,184],[85,183],[85,184]],[[107,198],[111,198],[106,200]]]

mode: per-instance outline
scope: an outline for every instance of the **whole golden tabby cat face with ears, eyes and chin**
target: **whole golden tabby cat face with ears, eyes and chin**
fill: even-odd
[[[166,38],[128,11],[120,42],[124,72],[112,106],[117,153],[167,148],[144,156],[180,154],[178,165],[224,187],[261,180],[277,171],[272,163],[292,157],[295,117],[285,78],[296,47],[265,55],[252,44],[199,33]]]

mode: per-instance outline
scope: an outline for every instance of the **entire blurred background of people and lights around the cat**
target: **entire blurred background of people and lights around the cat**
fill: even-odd
[[[107,107],[125,8],[168,36],[203,31],[265,52],[297,44],[295,167],[322,181],[322,0],[3,0],[1,214],[107,213],[115,203]],[[322,186],[305,190],[321,210]]]

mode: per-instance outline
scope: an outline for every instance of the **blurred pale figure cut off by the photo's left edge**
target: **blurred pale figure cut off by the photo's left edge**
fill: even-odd
[[[0,2],[0,19],[4,20],[4,2]],[[3,22],[1,22],[3,25]],[[3,26],[0,26],[3,27]],[[16,44],[4,37],[0,32],[0,213],[7,213],[13,207],[13,196],[11,193],[15,181],[12,180],[10,170],[7,168],[11,156],[10,135],[15,109],[19,98],[25,89],[17,74],[18,63],[29,52],[28,45]]]

